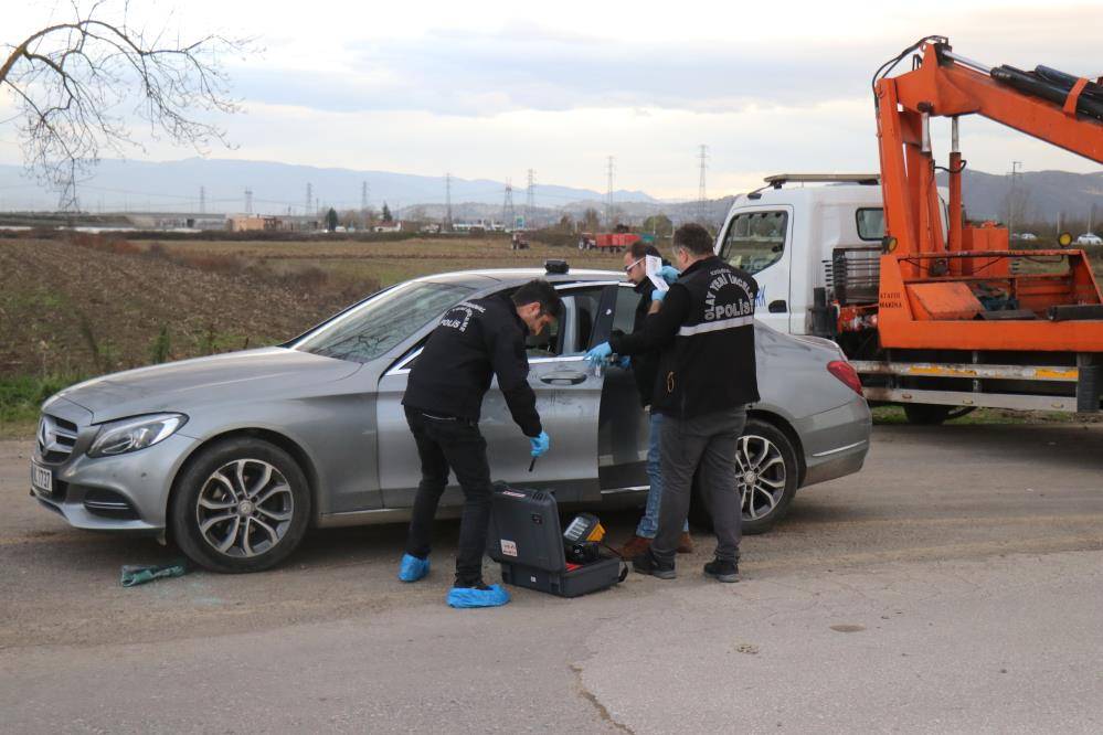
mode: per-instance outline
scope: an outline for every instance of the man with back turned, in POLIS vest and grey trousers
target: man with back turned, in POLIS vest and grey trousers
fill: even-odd
[[[689,511],[693,476],[712,514],[715,560],[704,573],[736,582],[741,499],[736,441],[746,406],[759,400],[754,355],[754,299],[759,286],[744,270],[713,254],[709,233],[697,224],[675,233],[681,277],[656,291],[641,331],[614,335],[613,352],[659,350],[651,411],[664,416],[660,447],[662,502],[659,530],[633,567],[661,579],[675,577],[675,550]]]

